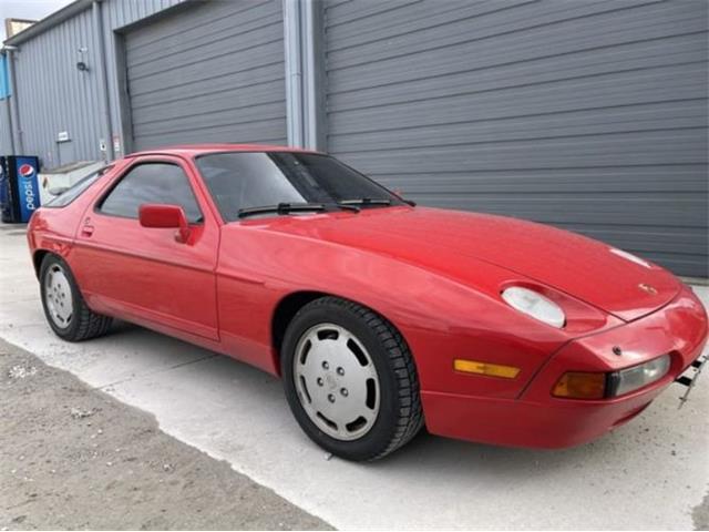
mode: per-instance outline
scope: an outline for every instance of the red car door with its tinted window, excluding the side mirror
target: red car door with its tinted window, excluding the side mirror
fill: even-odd
[[[84,297],[96,309],[157,328],[218,339],[215,267],[218,223],[197,174],[178,157],[137,157],[86,209],[75,256]],[[186,242],[174,228],[142,227],[142,204],[179,205]]]

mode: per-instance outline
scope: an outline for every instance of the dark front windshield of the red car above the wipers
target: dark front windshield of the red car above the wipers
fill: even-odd
[[[245,209],[279,204],[322,204],[335,208],[338,204],[366,208],[403,205],[401,198],[383,186],[328,155],[213,153],[199,156],[197,167],[222,216],[228,222],[238,219]],[[286,212],[279,211],[280,214]]]

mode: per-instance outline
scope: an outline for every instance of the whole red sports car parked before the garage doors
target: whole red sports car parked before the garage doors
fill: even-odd
[[[418,207],[278,146],[130,155],[38,209],[28,237],[61,338],[115,317],[257,366],[282,378],[305,432],[351,460],[423,424],[505,446],[589,441],[699,367],[707,338],[697,297],[647,260]]]

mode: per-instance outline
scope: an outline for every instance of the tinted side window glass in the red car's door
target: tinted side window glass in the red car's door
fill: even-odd
[[[144,203],[179,205],[191,223],[202,222],[189,180],[176,164],[143,163],[134,166],[103,200],[100,211],[112,216],[137,218]]]

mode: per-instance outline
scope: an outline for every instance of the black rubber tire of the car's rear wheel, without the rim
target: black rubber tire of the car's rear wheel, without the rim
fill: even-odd
[[[47,300],[47,276],[52,269],[56,268],[61,268],[69,283],[71,294],[66,294],[66,297],[71,297],[71,304],[73,305],[71,317],[68,318],[68,323],[64,325],[55,323],[52,318]],[[111,327],[111,317],[96,314],[86,306],[69,265],[56,255],[47,255],[42,260],[40,266],[40,293],[47,321],[54,334],[63,340],[89,340],[104,335]]]

